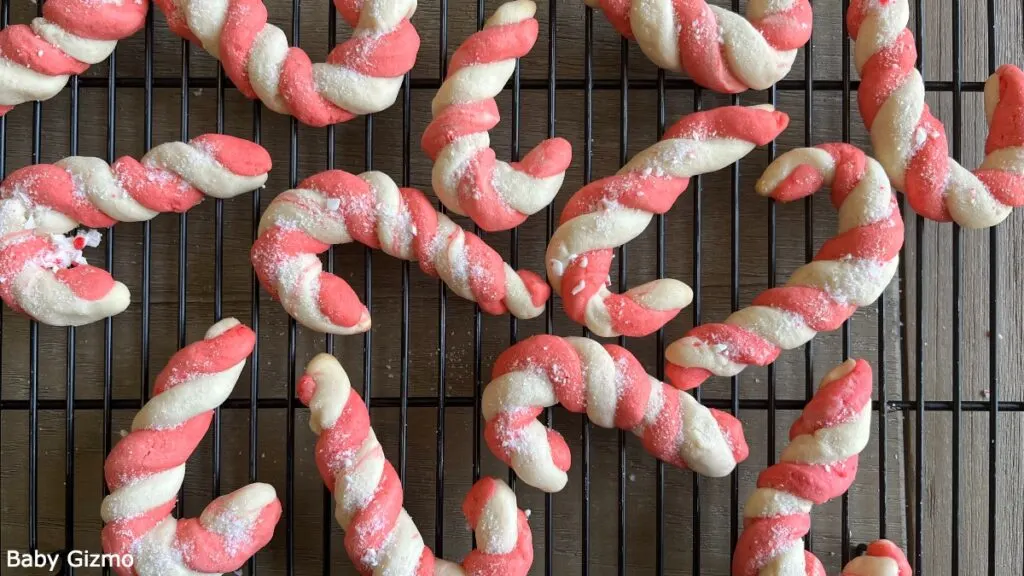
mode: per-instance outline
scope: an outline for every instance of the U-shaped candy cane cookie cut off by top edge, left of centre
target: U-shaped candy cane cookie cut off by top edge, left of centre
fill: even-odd
[[[327,61],[312,64],[266,22],[262,0],[156,0],[171,32],[220,60],[246,97],[310,126],[346,122],[394,104],[416,64],[416,0],[334,0],[353,28]]]

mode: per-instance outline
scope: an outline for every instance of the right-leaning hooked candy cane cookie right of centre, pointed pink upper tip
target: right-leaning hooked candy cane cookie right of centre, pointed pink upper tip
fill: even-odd
[[[646,336],[686,307],[693,293],[678,280],[655,280],[625,294],[609,291],[612,249],[639,236],[654,214],[668,212],[690,176],[738,161],[788,122],[767,105],[693,113],[615,175],[573,194],[545,257],[548,282],[565,314],[599,336]]]

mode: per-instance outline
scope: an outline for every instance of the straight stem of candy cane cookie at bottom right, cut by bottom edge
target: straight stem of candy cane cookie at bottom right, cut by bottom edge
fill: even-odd
[[[732,576],[824,576],[803,538],[811,506],[841,496],[857,476],[870,437],[871,387],[871,367],[863,360],[847,360],[821,379],[790,428],[778,463],[761,472],[746,500]]]

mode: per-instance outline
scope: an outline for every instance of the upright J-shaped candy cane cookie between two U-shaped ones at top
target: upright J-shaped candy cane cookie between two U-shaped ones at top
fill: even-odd
[[[483,30],[456,50],[423,133],[437,198],[487,232],[515,228],[550,204],[572,160],[564,138],[546,139],[512,164],[496,160],[490,149],[487,130],[501,118],[495,96],[512,76],[516,58],[537,42],[536,12],[530,0],[502,4]]]

